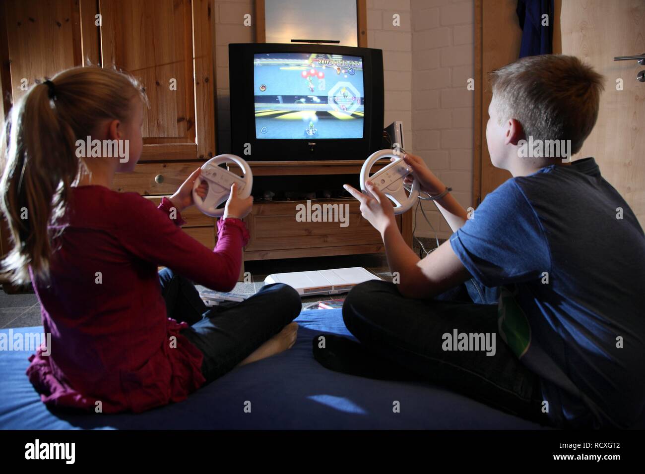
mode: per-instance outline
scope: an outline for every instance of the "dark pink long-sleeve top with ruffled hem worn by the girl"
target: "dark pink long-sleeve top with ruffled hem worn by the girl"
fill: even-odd
[[[157,266],[230,291],[244,223],[220,219],[210,250],[181,230],[165,198],[157,208],[136,193],[81,186],[68,208],[50,280],[32,275],[51,351],[30,357],[29,380],[48,405],[104,413],[186,399],[204,383],[203,355],[179,333],[186,323],[166,317]]]

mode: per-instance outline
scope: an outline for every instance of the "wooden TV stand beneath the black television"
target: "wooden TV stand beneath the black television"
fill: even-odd
[[[248,161],[253,177],[358,174],[363,160],[327,161]],[[387,164],[381,161],[374,171]],[[234,164],[228,168],[240,172]],[[275,190],[274,190],[275,191]],[[278,190],[279,191],[279,190]],[[299,222],[296,220],[299,201],[258,201],[244,218],[251,238],[244,248],[244,261],[357,255],[384,252],[381,235],[361,216],[355,199],[317,199],[312,204],[348,204],[349,224],[339,222]],[[306,202],[303,202],[306,204]],[[412,247],[412,213],[397,215],[397,224],[404,240]],[[242,272],[244,273],[244,272]]]

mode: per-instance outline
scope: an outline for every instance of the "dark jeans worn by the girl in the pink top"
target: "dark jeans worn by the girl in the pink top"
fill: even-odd
[[[202,373],[206,383],[246,359],[301,310],[297,291],[281,283],[266,285],[252,297],[229,307],[208,307],[195,285],[172,270],[161,270],[159,282],[168,317],[190,324],[181,334],[204,354]]]

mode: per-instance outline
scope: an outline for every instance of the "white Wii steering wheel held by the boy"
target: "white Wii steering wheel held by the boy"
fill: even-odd
[[[370,176],[372,166],[382,158],[398,159]],[[412,181],[412,190],[410,195],[406,194],[403,180],[410,173],[412,173],[412,169],[401,159],[401,155],[395,154],[393,150],[390,150],[389,148],[379,150],[378,152],[372,153],[372,155],[365,160],[365,163],[363,163],[361,176],[359,178],[361,190],[367,192],[365,182],[369,179],[379,190],[381,190],[382,193],[390,198],[390,201],[392,201],[393,204],[395,204],[394,213],[402,214],[412,208],[419,197],[419,183],[416,178]]]

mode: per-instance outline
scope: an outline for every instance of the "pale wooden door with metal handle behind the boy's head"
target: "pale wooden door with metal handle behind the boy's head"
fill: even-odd
[[[562,53],[581,58],[605,78],[598,120],[573,160],[595,157],[604,179],[645,227],[645,83],[636,80],[645,66],[613,61],[614,56],[645,52],[645,3],[566,0],[560,21]]]

